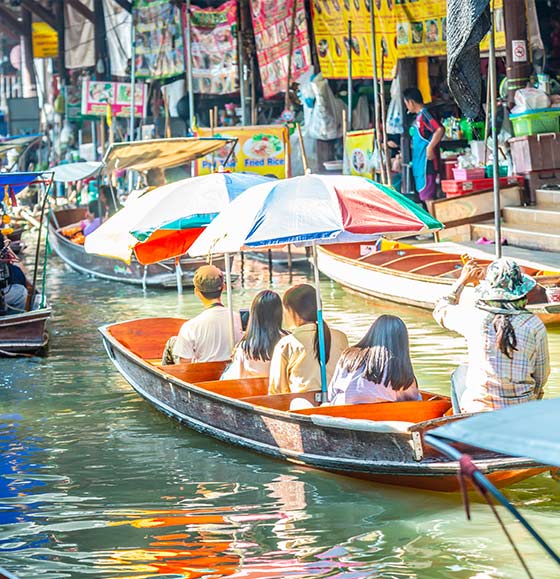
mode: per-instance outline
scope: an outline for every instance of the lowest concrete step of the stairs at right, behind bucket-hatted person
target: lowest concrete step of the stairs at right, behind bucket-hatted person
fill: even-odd
[[[471,239],[476,241],[480,237],[494,240],[494,223],[475,223],[471,225]],[[538,249],[541,251],[560,251],[560,228],[544,225],[508,225],[502,224],[502,239],[508,245]]]

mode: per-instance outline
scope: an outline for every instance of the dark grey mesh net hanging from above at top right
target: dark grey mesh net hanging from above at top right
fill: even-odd
[[[447,84],[471,119],[482,112],[479,45],[490,23],[489,0],[447,0]]]

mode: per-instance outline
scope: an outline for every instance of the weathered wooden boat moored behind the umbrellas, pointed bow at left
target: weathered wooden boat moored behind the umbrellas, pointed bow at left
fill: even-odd
[[[60,209],[54,211],[49,221],[49,242],[56,254],[72,269],[94,277],[111,281],[120,281],[147,287],[177,287],[175,261],[162,261],[144,267],[134,256],[130,264],[118,259],[86,253],[84,246],[75,243],[62,234],[62,229],[79,222],[84,217],[84,209]],[[190,287],[193,275],[198,267],[204,265],[203,258],[182,256],[181,260],[183,286]],[[225,268],[223,256],[216,256],[214,265]]]

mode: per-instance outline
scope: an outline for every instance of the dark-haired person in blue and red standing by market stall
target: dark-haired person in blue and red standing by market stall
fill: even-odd
[[[420,201],[436,198],[436,176],[439,168],[439,147],[445,130],[424,105],[417,88],[407,88],[403,99],[409,113],[416,115],[410,127],[412,136],[412,174]]]

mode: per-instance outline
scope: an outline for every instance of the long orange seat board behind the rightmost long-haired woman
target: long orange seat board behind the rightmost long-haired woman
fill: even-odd
[[[419,400],[414,402],[377,402],[374,404],[348,404],[344,406],[320,406],[294,410],[296,414],[310,416],[338,416],[362,420],[393,420],[424,422],[442,417],[451,408],[449,400]]]

